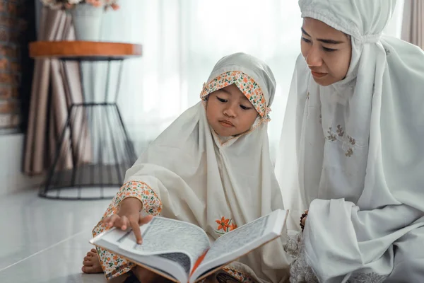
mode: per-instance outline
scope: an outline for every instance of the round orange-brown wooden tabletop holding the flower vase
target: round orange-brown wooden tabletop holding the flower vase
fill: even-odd
[[[120,42],[36,41],[30,42],[34,59],[126,59],[141,56],[141,45]]]

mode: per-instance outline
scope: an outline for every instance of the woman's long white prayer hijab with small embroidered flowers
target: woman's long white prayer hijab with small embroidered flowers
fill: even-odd
[[[300,0],[302,17],[351,35],[346,79],[314,82],[300,56],[276,175],[320,282],[389,275],[393,243],[424,225],[424,53],[382,36],[393,0]]]

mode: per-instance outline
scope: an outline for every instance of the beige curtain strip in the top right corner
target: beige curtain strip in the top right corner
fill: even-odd
[[[424,50],[423,0],[405,0],[401,38]]]

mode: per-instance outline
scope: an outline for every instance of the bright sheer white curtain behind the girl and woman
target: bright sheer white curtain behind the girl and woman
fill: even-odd
[[[403,7],[403,0],[397,8]],[[102,39],[143,45],[124,67],[119,106],[139,153],[199,101],[213,65],[226,54],[264,59],[278,83],[271,112],[271,155],[280,138],[295,59],[300,53],[298,1],[121,0],[104,17]],[[397,35],[401,12],[387,33]],[[399,33],[400,35],[400,33]]]

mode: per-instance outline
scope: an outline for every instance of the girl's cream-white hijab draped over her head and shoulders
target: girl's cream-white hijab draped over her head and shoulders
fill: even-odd
[[[266,106],[271,105],[276,87],[271,69],[247,54],[223,57],[213,68],[201,97],[221,88],[218,79],[232,71],[242,71],[263,93],[266,103],[254,104],[262,116],[252,129],[238,137],[221,139],[208,125],[205,102],[197,103],[153,141],[125,178],[125,182],[141,181],[155,190],[163,204],[162,216],[196,224],[212,240],[220,236],[216,221],[222,217],[242,226],[283,208],[267,134]],[[262,282],[281,282],[288,277],[280,239],[249,253],[240,262]]]

